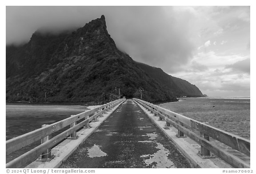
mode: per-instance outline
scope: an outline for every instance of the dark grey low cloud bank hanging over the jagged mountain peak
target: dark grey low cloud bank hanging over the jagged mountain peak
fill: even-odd
[[[192,58],[191,11],[160,6],[24,6],[6,8],[6,43],[28,42],[38,28],[83,27],[105,15],[108,33],[134,60],[173,73]]]

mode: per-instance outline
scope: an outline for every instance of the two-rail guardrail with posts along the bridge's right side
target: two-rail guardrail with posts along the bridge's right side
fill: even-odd
[[[216,156],[223,159],[225,162],[228,162],[233,167],[250,168],[250,164],[246,163],[235,155],[228,153],[224,149],[212,144],[209,141],[209,137],[212,137],[213,139],[216,139],[217,141],[224,143],[229,147],[232,147],[233,149],[236,149],[237,151],[240,151],[248,156],[250,156],[250,140],[244,139],[238,135],[234,135],[218,128],[214,128],[210,125],[193,120],[146,101],[142,101],[136,98],[133,98],[133,100],[154,113],[155,116],[159,116],[160,120],[164,119],[167,125],[171,124],[173,127],[178,129],[178,137],[184,137],[185,134],[189,138],[199,143],[201,145],[200,155],[203,158],[210,158],[210,152],[212,152]],[[184,125],[188,128],[194,128],[197,131],[200,131],[200,135],[189,130],[188,128],[185,128]]]

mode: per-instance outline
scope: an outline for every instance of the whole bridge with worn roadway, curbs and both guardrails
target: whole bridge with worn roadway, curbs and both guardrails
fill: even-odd
[[[6,168],[250,168],[250,140],[136,98],[9,139],[6,155],[38,140]]]

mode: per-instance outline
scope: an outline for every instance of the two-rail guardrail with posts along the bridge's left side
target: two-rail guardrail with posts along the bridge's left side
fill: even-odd
[[[88,127],[89,122],[95,120],[98,116],[100,116],[103,112],[108,111],[108,109],[120,104],[125,101],[125,99],[118,99],[116,101],[112,101],[110,103],[101,105],[100,107],[82,112],[77,115],[71,115],[71,117],[66,118],[64,120],[60,120],[56,123],[50,125],[44,125],[42,128],[36,129],[34,131],[28,132],[24,135],[17,136],[15,138],[9,139],[6,141],[6,155],[11,154],[23,147],[28,146],[31,143],[34,143],[41,139],[42,143],[33,148],[32,150],[20,155],[16,159],[8,162],[6,164],[6,168],[21,168],[24,167],[25,164],[31,163],[35,161],[40,155],[45,152],[51,151],[52,147],[55,147],[58,143],[60,143],[63,139],[70,135],[71,139],[76,139],[76,130],[82,127]],[[90,116],[90,117],[89,117]],[[84,119],[79,124],[76,124],[76,121]],[[63,131],[59,135],[52,137],[49,139],[48,136],[52,135],[52,133],[69,126],[66,131]],[[48,159],[49,152],[46,155],[46,160]]]

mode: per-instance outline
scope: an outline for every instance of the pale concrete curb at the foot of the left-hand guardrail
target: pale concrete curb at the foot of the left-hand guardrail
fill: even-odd
[[[123,101],[124,102],[124,101]],[[121,102],[120,104],[122,104]],[[112,110],[103,114],[103,117],[98,117],[99,121],[91,122],[91,128],[83,128],[76,132],[77,139],[65,139],[62,143],[52,148],[52,155],[55,155],[54,159],[50,162],[38,162],[34,161],[25,168],[58,168],[61,164],[68,159],[70,155],[83,143],[111,114],[120,106],[117,104]]]

